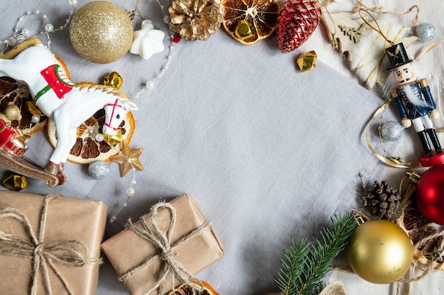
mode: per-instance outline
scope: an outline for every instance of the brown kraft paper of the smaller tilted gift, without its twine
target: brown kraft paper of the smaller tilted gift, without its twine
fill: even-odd
[[[162,206],[161,204],[168,203],[159,203],[157,205]],[[171,257],[193,275],[204,270],[204,268],[216,262],[216,260],[221,259],[223,256],[222,243],[213,226],[211,226],[199,209],[196,199],[183,194],[173,199],[169,204],[174,207],[176,214],[176,222],[171,231],[170,245],[183,240],[185,236],[193,231],[196,232],[198,228],[203,229],[199,231],[199,234],[192,236],[187,241],[179,242],[177,248],[173,246]],[[142,216],[141,219],[145,221],[151,230],[154,229],[150,214]],[[171,220],[170,210],[164,207],[160,207],[157,214],[155,214],[157,226],[165,235],[167,235]],[[134,226],[138,229],[142,228],[141,221],[136,222]],[[131,295],[145,294],[162,277],[162,269],[165,265],[162,264],[161,259],[155,259],[144,265],[145,261],[160,253],[150,241],[138,236],[133,229],[128,229],[128,223],[126,227],[126,229],[102,243],[101,248],[111,261],[118,277],[123,281],[128,292]],[[142,267],[139,267],[140,265]],[[125,274],[137,267],[139,267],[137,271],[123,279]],[[177,286],[180,283],[179,279],[174,277],[174,285]],[[171,289],[172,277],[170,272],[165,279],[161,293],[165,294]],[[157,289],[150,294],[157,294]]]

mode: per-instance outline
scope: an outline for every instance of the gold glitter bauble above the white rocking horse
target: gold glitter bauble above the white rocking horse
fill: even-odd
[[[108,1],[93,1],[72,17],[70,37],[74,50],[84,59],[108,64],[130,50],[133,25],[121,7]]]

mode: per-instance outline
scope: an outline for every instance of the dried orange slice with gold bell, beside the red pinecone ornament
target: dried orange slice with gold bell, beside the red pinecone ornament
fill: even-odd
[[[222,0],[222,5],[223,28],[242,44],[255,44],[276,30],[278,0]]]

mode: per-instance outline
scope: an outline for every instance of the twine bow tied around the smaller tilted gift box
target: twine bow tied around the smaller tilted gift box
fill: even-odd
[[[168,225],[166,231],[162,231],[157,225],[157,210],[161,208],[167,209],[170,212],[171,216],[170,224]],[[150,263],[154,262],[155,260],[160,260],[162,262],[162,271],[160,272],[160,277],[159,279],[157,279],[157,282],[148,291],[145,292],[145,295],[150,294],[156,289],[157,295],[161,295],[162,288],[167,279],[167,275],[170,274],[170,272],[172,273],[172,289],[174,289],[175,286],[174,277],[177,277],[179,281],[189,285],[190,289],[192,289],[193,291],[193,294],[195,294],[196,291],[201,291],[203,286],[199,279],[196,279],[194,275],[188,272],[180,262],[174,259],[173,252],[179,247],[179,245],[182,245],[182,243],[185,243],[186,241],[199,236],[199,234],[202,233],[202,231],[204,231],[204,229],[206,229],[206,227],[211,224],[210,221],[206,220],[204,224],[194,229],[187,235],[183,236],[174,244],[171,243],[171,240],[172,233],[174,231],[174,225],[176,224],[176,210],[174,209],[172,204],[166,202],[155,204],[151,208],[150,221],[154,231],[150,229],[143,217],[140,218],[140,224],[142,227],[135,226],[131,219],[129,219],[125,225],[125,228],[131,229],[135,234],[152,243],[152,245],[154,245],[155,249],[157,250],[157,254],[148,257],[140,265],[133,267],[131,270],[128,270],[128,272],[122,274],[121,277],[119,277],[118,279],[121,281],[125,281],[139,270],[142,270],[147,265],[150,265]],[[192,284],[192,281],[197,282],[197,286],[196,284]]]

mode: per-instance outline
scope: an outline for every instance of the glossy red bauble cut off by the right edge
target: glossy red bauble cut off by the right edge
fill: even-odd
[[[426,170],[416,187],[416,203],[424,216],[444,225],[444,164]]]

